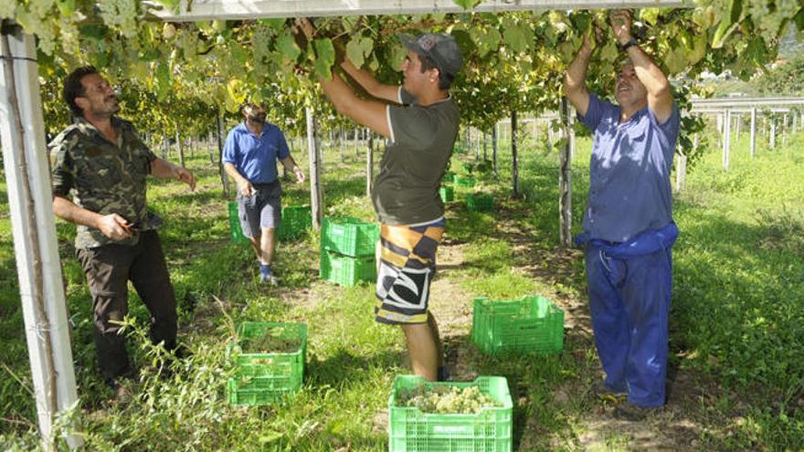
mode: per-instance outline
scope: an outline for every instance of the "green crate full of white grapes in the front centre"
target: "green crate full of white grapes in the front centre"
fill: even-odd
[[[428,382],[397,375],[388,401],[390,452],[510,452],[513,404],[503,377]]]

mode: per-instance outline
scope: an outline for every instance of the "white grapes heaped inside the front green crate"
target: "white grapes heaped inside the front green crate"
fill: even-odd
[[[492,397],[482,394],[477,385],[418,386],[399,392],[400,406],[415,406],[424,413],[477,415],[483,408],[501,406]]]

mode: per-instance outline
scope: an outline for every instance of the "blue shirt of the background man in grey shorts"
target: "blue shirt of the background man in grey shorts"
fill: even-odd
[[[229,131],[223,146],[223,163],[232,163],[252,184],[270,184],[279,177],[277,159],[290,155],[288,142],[280,128],[266,122],[259,137],[240,122]]]

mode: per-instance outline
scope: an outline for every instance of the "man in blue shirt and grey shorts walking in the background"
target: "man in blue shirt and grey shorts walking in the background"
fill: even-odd
[[[273,274],[274,232],[281,221],[281,194],[276,161],[304,182],[304,173],[293,161],[280,128],[265,121],[265,109],[243,105],[245,121],[229,131],[223,148],[226,172],[238,184],[238,212],[243,235],[249,237],[259,260],[259,279],[276,285]]]

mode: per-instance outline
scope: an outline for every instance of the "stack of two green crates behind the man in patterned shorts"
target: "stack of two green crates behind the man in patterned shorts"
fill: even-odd
[[[342,286],[376,279],[376,223],[351,216],[330,216],[321,225],[321,279]]]

